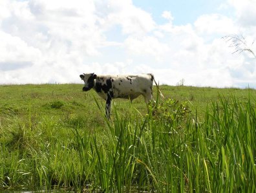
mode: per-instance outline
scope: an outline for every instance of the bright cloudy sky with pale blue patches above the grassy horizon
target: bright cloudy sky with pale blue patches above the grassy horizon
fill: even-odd
[[[153,73],[160,84],[256,88],[256,0],[0,0],[0,84]]]

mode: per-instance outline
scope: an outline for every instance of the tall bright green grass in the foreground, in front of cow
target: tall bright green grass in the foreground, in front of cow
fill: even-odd
[[[157,100],[147,115],[132,105],[127,111],[113,106],[112,120],[105,119],[101,132],[84,131],[77,119],[66,130],[67,138],[58,138],[62,126],[51,120],[34,125],[31,118],[27,123],[14,118],[16,124],[1,128],[0,188],[256,191],[253,99],[221,96],[202,120],[175,100]],[[8,132],[13,138],[7,138]]]

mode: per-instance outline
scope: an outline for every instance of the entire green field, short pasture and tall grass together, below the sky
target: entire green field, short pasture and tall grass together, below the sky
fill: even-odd
[[[0,86],[0,192],[256,192],[256,91],[160,86],[105,102],[81,84]]]

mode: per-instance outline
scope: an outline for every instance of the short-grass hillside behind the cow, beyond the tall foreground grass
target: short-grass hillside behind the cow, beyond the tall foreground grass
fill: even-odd
[[[27,115],[28,110],[33,116],[49,117],[56,120],[69,118],[70,115],[83,116],[95,119],[100,111],[96,106],[96,100],[102,105],[105,102],[96,94],[95,91],[81,91],[81,84],[42,84],[42,85],[10,85],[0,86],[0,115],[17,115],[23,117]],[[246,102],[256,96],[254,89],[237,88],[211,88],[211,87],[190,87],[190,86],[161,86],[165,98],[173,98],[180,102],[187,102],[189,108],[195,113],[197,109],[199,115],[204,115],[206,106],[211,102],[218,102],[221,96],[230,98],[235,96],[240,102]],[[156,89],[154,89],[156,98]],[[129,101],[124,99],[115,99],[114,103],[125,113],[129,107]],[[133,107],[141,113],[147,113],[144,98],[140,96],[133,100]],[[89,116],[88,116],[89,115]],[[102,117],[100,120],[103,119]],[[102,120],[103,121],[103,120]],[[102,122],[99,123],[99,126]],[[90,125],[92,126],[92,125]]]

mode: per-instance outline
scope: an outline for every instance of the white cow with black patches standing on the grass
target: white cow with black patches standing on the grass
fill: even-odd
[[[83,91],[94,89],[98,95],[106,100],[105,116],[109,119],[111,115],[112,98],[134,98],[142,95],[146,104],[153,98],[153,74],[140,75],[96,75],[94,73],[83,73],[81,80],[85,82]],[[156,81],[155,81],[156,84]],[[157,86],[157,84],[156,84]],[[159,90],[159,89],[158,89]],[[162,96],[162,93],[160,93]]]

